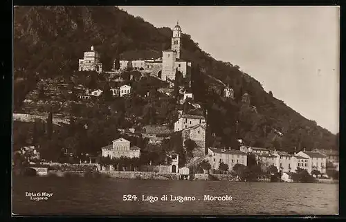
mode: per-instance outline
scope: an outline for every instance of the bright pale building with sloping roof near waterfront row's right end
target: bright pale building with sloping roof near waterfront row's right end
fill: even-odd
[[[300,151],[296,156],[309,158],[308,171],[311,174],[313,169],[317,169],[322,174],[326,173],[327,155],[315,151]]]

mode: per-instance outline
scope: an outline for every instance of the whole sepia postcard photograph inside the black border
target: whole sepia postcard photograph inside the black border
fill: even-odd
[[[338,6],[15,6],[12,216],[338,215]]]

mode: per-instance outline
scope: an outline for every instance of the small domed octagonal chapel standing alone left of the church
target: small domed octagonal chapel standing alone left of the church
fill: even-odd
[[[100,54],[91,46],[91,50],[84,53],[84,59],[79,59],[78,71],[96,71],[102,72],[100,63]]]

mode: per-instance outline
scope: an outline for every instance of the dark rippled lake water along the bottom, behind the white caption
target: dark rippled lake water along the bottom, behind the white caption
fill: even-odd
[[[338,214],[338,184],[15,177],[12,187],[12,212],[18,215]],[[26,192],[47,199],[30,200]],[[122,201],[126,194],[138,198]],[[179,203],[170,201],[171,194],[196,199]],[[157,196],[158,201],[143,201],[142,195]],[[161,201],[163,195],[167,201]],[[204,201],[204,195],[228,195],[232,200]]]

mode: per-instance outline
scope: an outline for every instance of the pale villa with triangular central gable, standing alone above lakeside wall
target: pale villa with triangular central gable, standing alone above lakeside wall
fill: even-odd
[[[126,156],[128,158],[139,158],[140,148],[133,146],[130,147],[130,141],[124,138],[118,138],[113,140],[111,145],[102,147],[102,156],[109,158],[120,158],[120,156]]]

